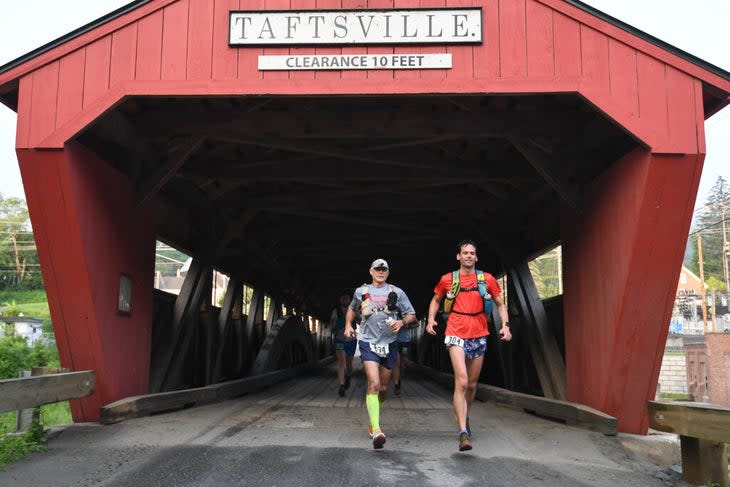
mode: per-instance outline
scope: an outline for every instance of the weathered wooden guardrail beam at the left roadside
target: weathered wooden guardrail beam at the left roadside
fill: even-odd
[[[0,413],[89,396],[95,385],[93,370],[0,380]]]

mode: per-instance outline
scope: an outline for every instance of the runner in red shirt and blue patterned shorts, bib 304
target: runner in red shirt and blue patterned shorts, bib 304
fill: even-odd
[[[484,300],[479,293],[477,273],[477,247],[471,240],[459,242],[456,254],[459,261],[459,287],[453,308],[446,323],[446,347],[454,369],[454,412],[459,427],[459,451],[471,450],[471,430],[469,429],[469,410],[477,392],[477,382],[482,371],[484,354],[487,351],[487,316]],[[451,290],[452,274],[441,276],[434,288],[434,296],[428,306],[426,332],[436,334],[436,313],[441,301]],[[494,300],[502,321],[500,339],[509,341],[507,306],[502,300],[502,290],[491,274],[484,273],[489,294]]]

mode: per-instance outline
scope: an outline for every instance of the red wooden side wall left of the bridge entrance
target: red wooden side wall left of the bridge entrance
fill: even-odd
[[[100,406],[148,392],[155,212],[76,144],[18,160],[62,363],[97,375],[94,395],[72,401],[74,420],[95,421]],[[130,315],[116,313],[120,273],[132,278]]]

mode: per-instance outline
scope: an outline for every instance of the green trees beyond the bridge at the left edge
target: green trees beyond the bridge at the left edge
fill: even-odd
[[[0,289],[42,287],[28,208],[0,195]]]

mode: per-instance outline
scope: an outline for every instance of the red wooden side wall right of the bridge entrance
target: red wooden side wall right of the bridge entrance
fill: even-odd
[[[568,396],[620,431],[648,427],[702,161],[636,150],[563,215]]]

